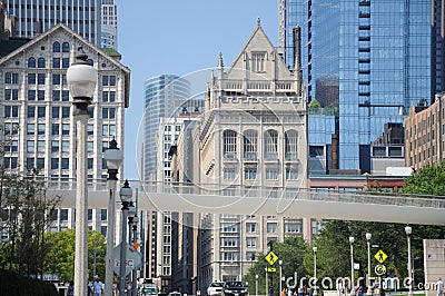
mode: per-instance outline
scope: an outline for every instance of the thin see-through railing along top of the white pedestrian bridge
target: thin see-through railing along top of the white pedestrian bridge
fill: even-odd
[[[160,181],[129,180],[132,188],[138,187],[140,194],[148,197],[154,194],[165,195],[200,195],[200,196],[230,196],[239,198],[283,198],[286,200],[324,200],[340,203],[359,203],[377,205],[399,205],[413,207],[445,208],[445,196],[418,196],[386,193],[337,193],[332,190],[319,190],[291,187],[260,187],[217,184],[180,184]],[[50,190],[76,190],[76,180],[66,179],[47,181]],[[118,186],[121,186],[118,184]],[[93,191],[106,191],[107,181],[102,179],[89,180],[88,189]]]

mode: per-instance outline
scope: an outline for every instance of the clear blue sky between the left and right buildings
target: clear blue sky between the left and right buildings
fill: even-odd
[[[131,69],[126,111],[125,177],[138,179],[137,132],[144,115],[144,82],[158,75],[186,76],[214,68],[222,52],[231,65],[257,18],[278,46],[278,0],[118,0],[118,51]]]

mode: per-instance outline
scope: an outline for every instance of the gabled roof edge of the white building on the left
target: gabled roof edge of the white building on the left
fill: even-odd
[[[22,51],[32,48],[36,43],[44,40],[46,38],[50,37],[51,34],[63,31],[69,36],[72,36],[73,39],[77,40],[80,45],[82,45],[83,49],[87,51],[93,51],[97,52],[101,58],[106,59],[108,62],[115,65],[118,69],[120,69],[125,73],[125,107],[129,107],[129,98],[130,98],[130,69],[122,63],[120,63],[118,60],[115,58],[110,57],[107,51],[97,48],[92,43],[90,43],[88,40],[86,40],[83,37],[65,26],[63,23],[59,23],[55,27],[52,27],[50,30],[46,31],[44,33],[36,37],[31,41],[22,45],[21,47],[17,48],[16,50],[11,51],[7,56],[2,57],[0,59],[0,67],[7,62],[8,60],[12,59],[13,57],[20,55]]]

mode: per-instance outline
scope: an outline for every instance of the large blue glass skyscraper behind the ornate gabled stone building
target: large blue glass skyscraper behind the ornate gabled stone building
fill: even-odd
[[[432,96],[431,0],[281,0],[279,13],[290,63],[300,27],[308,99],[325,107],[338,93],[338,168],[369,172],[370,142],[385,124],[403,122]]]

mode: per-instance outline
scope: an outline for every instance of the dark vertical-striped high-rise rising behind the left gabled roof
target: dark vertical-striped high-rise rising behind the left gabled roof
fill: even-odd
[[[34,38],[58,23],[100,47],[100,0],[4,0],[7,17],[14,19],[13,37]]]

